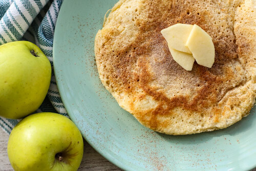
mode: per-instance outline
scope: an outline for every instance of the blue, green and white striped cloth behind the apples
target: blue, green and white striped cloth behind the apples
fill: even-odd
[[[62,0],[0,0],[0,45],[26,40],[35,43],[53,66],[53,35]],[[67,116],[57,89],[54,72],[48,95],[36,112],[58,112]],[[9,134],[19,120],[0,117],[0,126]]]

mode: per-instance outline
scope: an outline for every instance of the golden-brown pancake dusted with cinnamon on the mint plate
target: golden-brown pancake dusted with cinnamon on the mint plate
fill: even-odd
[[[123,0],[95,37],[99,77],[144,126],[170,135],[226,128],[256,97],[256,4],[246,1]],[[186,71],[160,31],[197,24],[215,45],[212,68]]]

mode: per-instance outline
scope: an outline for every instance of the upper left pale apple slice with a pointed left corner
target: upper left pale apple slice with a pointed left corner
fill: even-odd
[[[167,41],[168,46],[178,51],[191,54],[191,51],[187,46],[185,46],[185,43],[192,28],[193,25],[178,23],[161,30],[161,33]]]

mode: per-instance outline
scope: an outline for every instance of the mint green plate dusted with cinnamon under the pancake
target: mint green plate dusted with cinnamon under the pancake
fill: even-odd
[[[248,170],[256,166],[256,108],[227,129],[168,136],[143,127],[103,87],[94,37],[116,0],[64,1],[53,60],[61,98],[83,137],[125,170]]]

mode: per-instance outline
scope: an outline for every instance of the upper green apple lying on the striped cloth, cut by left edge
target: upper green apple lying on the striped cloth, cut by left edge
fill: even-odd
[[[23,118],[44,101],[51,81],[51,64],[33,43],[0,46],[0,116]]]

